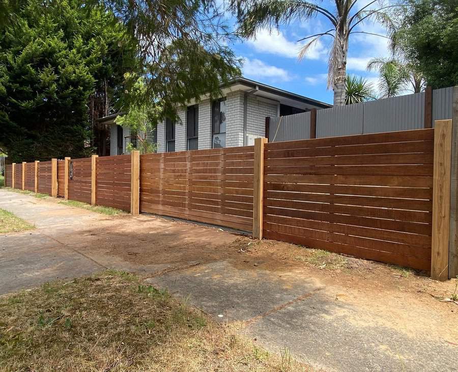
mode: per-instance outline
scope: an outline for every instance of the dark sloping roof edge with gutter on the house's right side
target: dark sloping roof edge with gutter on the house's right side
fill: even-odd
[[[232,79],[232,81],[228,84],[228,87],[234,87],[237,85],[245,86],[250,89],[256,89],[257,91],[259,91],[259,94],[262,94],[264,96],[268,95],[271,98],[277,97],[277,98],[280,98],[280,101],[283,98],[287,100],[285,104],[293,105],[292,102],[300,102],[302,104],[310,105],[310,106],[320,108],[320,109],[328,109],[332,107],[332,104],[318,101],[316,99],[312,99],[309,97],[301,96],[300,94],[288,92],[283,89],[275,88],[267,84],[255,82],[254,80],[247,79],[246,77],[243,77],[243,76],[238,76]]]

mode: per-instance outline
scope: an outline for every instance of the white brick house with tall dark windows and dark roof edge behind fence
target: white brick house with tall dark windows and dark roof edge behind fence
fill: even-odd
[[[175,123],[170,120],[159,123],[157,151],[252,145],[255,138],[265,136],[268,116],[278,117],[331,107],[330,104],[244,77],[233,79],[221,93],[218,100],[202,97],[197,104],[190,102],[180,107],[179,120]],[[110,154],[124,153],[121,150],[130,141],[129,129],[118,128],[116,124],[111,124],[110,129]]]

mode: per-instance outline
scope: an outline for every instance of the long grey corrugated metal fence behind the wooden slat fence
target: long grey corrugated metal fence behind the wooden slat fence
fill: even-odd
[[[453,87],[433,90],[433,126],[434,120],[451,119],[452,97]],[[318,110],[317,138],[420,129],[424,111],[424,92]],[[308,138],[309,112],[270,118],[269,142]]]

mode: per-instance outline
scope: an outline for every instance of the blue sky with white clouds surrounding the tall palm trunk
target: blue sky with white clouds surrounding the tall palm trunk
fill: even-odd
[[[359,4],[358,4],[359,3]],[[357,7],[367,4],[359,0]],[[332,3],[321,3],[330,9]],[[376,3],[377,5],[377,3]],[[380,4],[378,4],[380,6]],[[356,7],[355,7],[356,8]],[[302,61],[297,60],[298,39],[325,32],[332,28],[327,18],[318,16],[306,22],[296,22],[269,34],[260,30],[256,38],[232,45],[236,55],[244,59],[243,75],[247,78],[294,93],[332,103],[332,91],[326,88],[328,50],[332,37],[323,36]],[[366,23],[359,31],[385,35],[382,26]],[[304,43],[304,42],[302,42]],[[377,88],[377,73],[366,71],[367,62],[374,57],[389,56],[387,39],[375,35],[353,34],[350,37],[347,72],[361,75]]]

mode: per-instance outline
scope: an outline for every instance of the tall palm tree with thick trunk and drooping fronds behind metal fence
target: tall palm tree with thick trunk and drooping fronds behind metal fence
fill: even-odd
[[[385,11],[396,5],[387,5],[376,9],[371,5],[379,0],[372,0],[361,9],[355,11],[355,5],[362,0],[334,0],[335,9],[320,6],[319,0],[231,0],[231,8],[237,15],[238,32],[246,38],[255,36],[256,31],[267,28],[269,31],[281,24],[292,21],[309,20],[321,14],[331,23],[332,28],[319,34],[306,36],[300,40],[309,40],[302,46],[299,59],[302,59],[309,48],[323,36],[333,38],[328,61],[328,89],[334,91],[334,105],[345,104],[345,80],[347,75],[348,42],[350,35],[356,33],[371,34],[358,31],[356,27],[365,21],[378,21],[391,28],[391,21]],[[382,36],[382,35],[379,35]],[[383,36],[384,37],[384,36]]]

